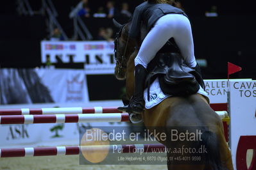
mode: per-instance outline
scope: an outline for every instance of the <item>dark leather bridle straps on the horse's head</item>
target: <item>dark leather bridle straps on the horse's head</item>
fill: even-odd
[[[117,63],[117,73],[120,72],[120,70],[122,70],[123,68],[126,68],[126,59],[125,59],[125,56],[126,56],[126,51],[127,51],[127,47],[128,47],[128,40],[126,41],[125,43],[125,47],[124,47],[124,52],[123,52],[123,55],[121,55],[121,58],[117,58],[117,49],[118,49],[118,44],[119,44],[119,38],[121,37],[121,34],[122,34],[122,31],[123,31],[123,28],[124,28],[125,25],[123,25],[119,31],[117,32],[117,34],[115,35],[115,40],[114,40],[114,45],[115,45],[115,49],[114,49],[114,54],[115,54],[115,61]],[[121,60],[121,61],[120,61]]]

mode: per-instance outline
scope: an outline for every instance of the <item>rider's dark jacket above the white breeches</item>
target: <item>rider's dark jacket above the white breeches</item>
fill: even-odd
[[[185,12],[170,4],[154,4],[144,2],[135,8],[132,17],[132,24],[129,29],[129,37],[136,38],[141,30],[141,22],[149,31],[160,17],[169,13],[180,13],[187,17]]]

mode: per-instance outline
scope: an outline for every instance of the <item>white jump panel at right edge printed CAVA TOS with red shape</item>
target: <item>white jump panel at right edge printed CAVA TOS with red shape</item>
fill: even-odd
[[[247,150],[256,151],[256,81],[230,82],[228,102],[234,167],[237,170],[247,169]],[[252,169],[255,169],[255,165]]]

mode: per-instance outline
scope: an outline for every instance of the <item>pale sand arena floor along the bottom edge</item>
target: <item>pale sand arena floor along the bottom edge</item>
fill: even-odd
[[[247,152],[247,166],[249,166],[252,161],[252,150]],[[132,166],[85,166],[79,165],[79,155],[69,155],[69,156],[49,156],[49,157],[14,157],[14,158],[0,158],[0,169],[21,169],[21,170],[75,170],[75,169],[88,169],[88,170],[98,170],[98,169],[123,169],[123,170],[147,170],[147,169],[167,169],[166,165],[157,166],[147,166],[147,165],[132,165]]]

